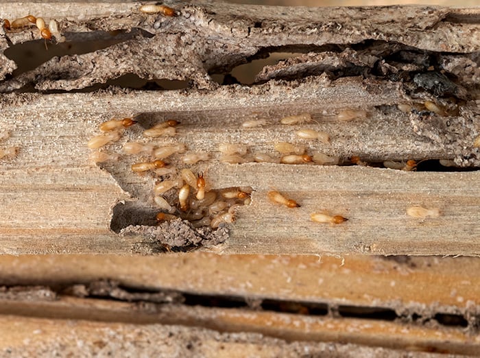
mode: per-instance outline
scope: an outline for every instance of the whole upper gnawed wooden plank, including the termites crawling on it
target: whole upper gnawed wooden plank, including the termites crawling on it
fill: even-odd
[[[68,43],[119,38],[14,72],[42,24],[0,30],[1,252],[479,252],[479,171],[420,171],[480,166],[477,10],[41,6]],[[302,53],[230,74],[272,51]],[[88,88],[132,74],[192,86]]]

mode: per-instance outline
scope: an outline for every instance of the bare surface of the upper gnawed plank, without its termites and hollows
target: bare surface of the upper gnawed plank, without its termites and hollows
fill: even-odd
[[[43,90],[83,88],[124,73],[137,73],[145,78],[190,79],[203,89],[3,93],[1,130],[10,131],[11,136],[0,145],[17,145],[20,150],[16,158],[0,161],[0,252],[156,252],[152,245],[162,243],[150,235],[152,228],[141,228],[134,235],[124,236],[110,230],[112,210],[122,200],[138,202],[139,206],[132,206],[125,217],[113,215],[120,228],[135,224],[131,217],[138,219],[144,211],[151,216],[141,218],[141,223],[154,222],[154,180],[130,170],[132,163],[149,158],[122,154],[118,160],[101,164],[103,171],[88,163],[91,151],[86,142],[99,134],[99,123],[129,116],[134,116],[139,124],[125,131],[118,143],[108,146],[108,152],[121,154],[125,141],[143,140],[143,129],[158,121],[178,119],[182,125],[176,138],[158,139],[154,143],[181,142],[187,145],[188,152],[210,152],[211,160],[195,165],[193,170],[204,171],[211,189],[239,186],[254,189],[252,204],[237,209],[235,223],[228,225],[230,233],[226,241],[214,248],[217,252],[468,255],[479,252],[477,171],[440,174],[373,167],[228,165],[219,162],[218,152],[220,143],[247,143],[250,154],[266,152],[278,158],[274,143],[291,141],[307,145],[309,154],[324,152],[340,156],[346,162],[348,157],[358,155],[373,162],[445,158],[462,165],[475,165],[479,150],[472,143],[480,132],[478,84],[472,80],[479,73],[475,62],[480,47],[477,10],[259,7],[254,8],[258,12],[252,12],[252,8],[242,5],[199,3],[183,8],[173,5],[178,6],[180,16],[165,19],[141,14],[136,3],[123,3],[118,8],[88,4],[89,12],[85,14],[82,9],[87,5],[70,3],[67,10],[71,13],[68,19],[63,19],[66,15],[60,3],[45,5],[42,11],[40,5],[31,4],[29,12],[45,11],[58,19],[62,32],[73,41],[92,30],[132,27],[154,36],[133,36],[126,43],[104,50],[52,59],[32,71],[4,80],[0,83],[2,92],[24,88],[30,82]],[[48,6],[50,12],[45,10]],[[24,5],[16,4],[1,13],[14,19],[24,10]],[[385,16],[392,13],[398,18],[390,23],[390,17],[387,21]],[[424,16],[419,17],[420,14]],[[411,23],[409,27],[405,27],[405,19]],[[154,27],[155,21],[160,21],[158,29]],[[262,21],[260,27],[254,26],[256,21]],[[280,28],[285,31],[280,32]],[[463,31],[471,31],[471,36],[457,36]],[[38,38],[35,29],[7,36],[14,44]],[[291,82],[271,80],[247,87],[219,86],[207,75],[214,70],[228,71],[272,46],[349,47],[369,39],[381,42],[365,45],[358,52],[348,49],[328,54],[327,49],[315,47],[309,47],[309,51],[327,53],[334,62],[338,58],[352,60],[352,56],[360,56],[363,61],[374,56],[375,51],[387,56],[394,49],[428,50],[432,56],[437,53],[445,68],[458,78],[455,93],[459,97],[459,112],[448,117],[431,112],[401,112],[397,104],[422,106],[425,100],[435,100],[446,105],[448,99],[436,99],[434,93],[424,88],[409,87],[413,85],[394,82],[391,77],[335,78],[326,72],[302,77],[297,72],[298,79]],[[384,56],[376,55],[379,59]],[[3,64],[4,69],[10,69],[10,62]],[[280,69],[290,71],[291,65],[282,64]],[[365,62],[365,68],[371,70],[371,66],[372,63]],[[353,67],[349,64],[341,67],[341,71]],[[385,67],[385,71],[389,68]],[[276,76],[272,77],[272,69],[265,69],[265,73],[268,78]],[[337,121],[337,112],[346,108],[365,109],[368,116],[350,122]],[[315,121],[302,126],[279,123],[285,115],[300,112],[311,113]],[[241,123],[248,119],[266,119],[268,124],[241,129]],[[300,128],[324,130],[330,134],[331,143],[296,139],[295,131]],[[172,158],[171,165],[182,167],[178,156]],[[272,188],[302,206],[289,209],[268,202],[266,193]],[[173,200],[174,195],[169,199]],[[439,208],[442,216],[408,217],[406,208],[413,205]],[[309,220],[311,213],[323,210],[344,215],[348,222],[328,226]],[[182,230],[191,229],[182,226]]]

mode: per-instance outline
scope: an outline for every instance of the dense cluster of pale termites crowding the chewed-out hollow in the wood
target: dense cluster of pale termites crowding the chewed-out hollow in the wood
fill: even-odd
[[[87,146],[94,150],[89,158],[93,163],[117,161],[120,154],[103,150],[109,143],[121,139],[126,128],[137,122],[132,118],[111,119],[101,123],[102,134],[94,136]],[[150,195],[152,206],[158,213],[160,224],[173,219],[188,220],[195,228],[210,226],[219,228],[222,223],[235,220],[235,209],[250,204],[250,187],[232,187],[214,190],[208,184],[208,173],[196,170],[197,163],[210,160],[206,152],[187,152],[184,143],[173,142],[180,122],[173,119],[157,123],[143,131],[143,141],[127,141],[123,144],[123,157],[134,157],[130,169],[139,176],[153,180]],[[161,139],[165,139],[163,143]],[[169,143],[166,141],[169,140]],[[155,143],[152,143],[155,141]]]

